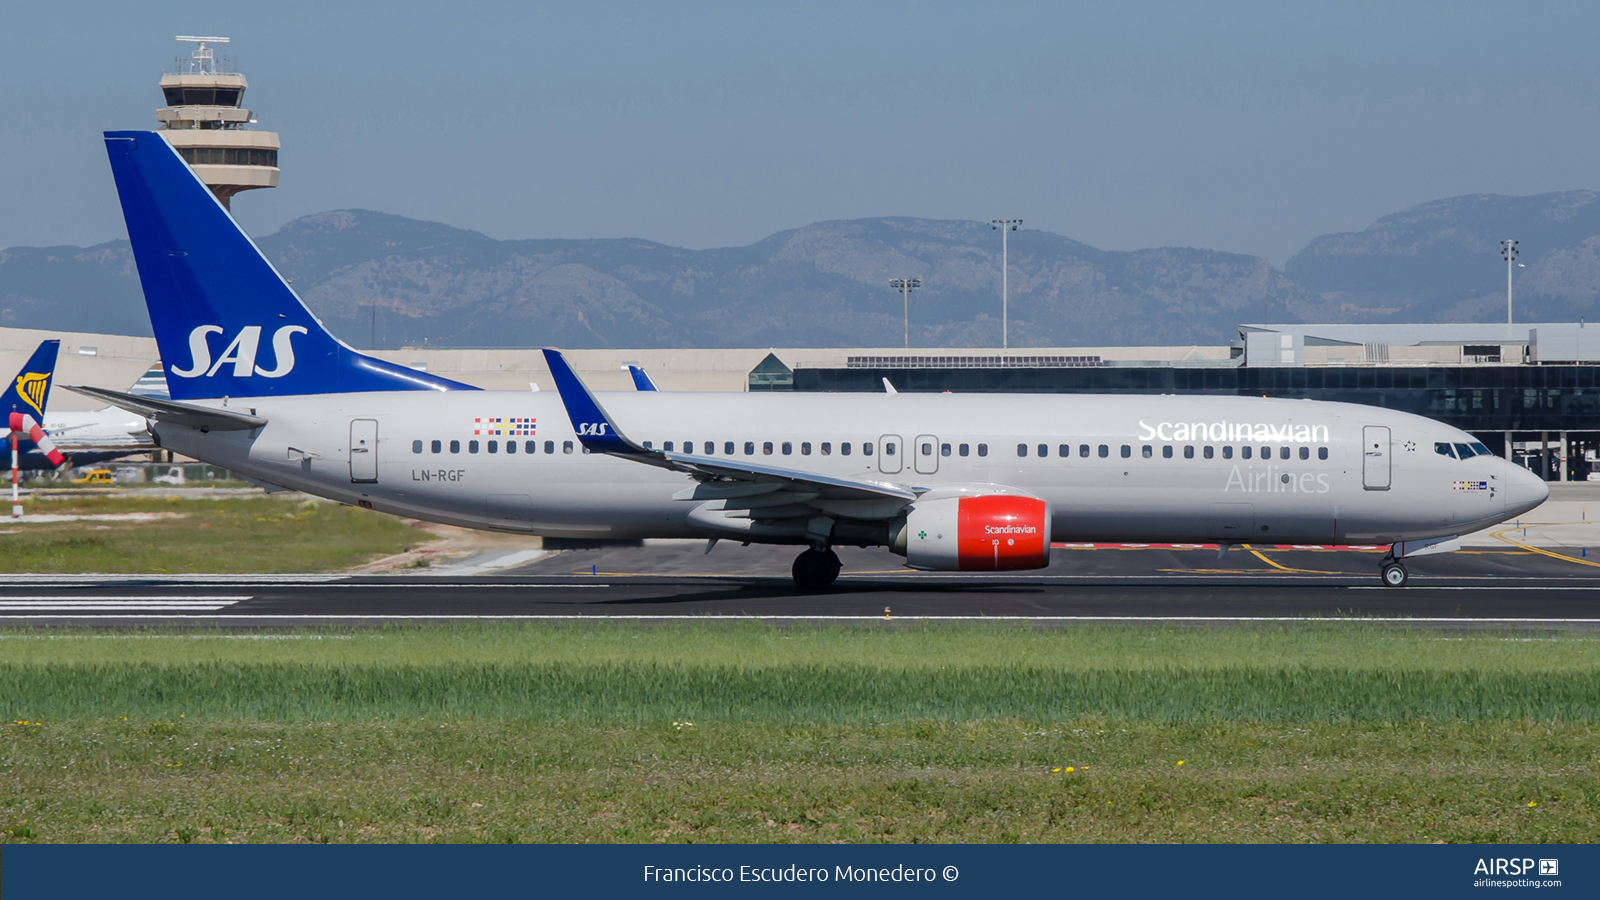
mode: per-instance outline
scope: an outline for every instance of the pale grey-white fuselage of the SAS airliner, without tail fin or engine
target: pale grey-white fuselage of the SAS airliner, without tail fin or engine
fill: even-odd
[[[672,442],[674,452],[691,445],[706,455],[710,444],[717,460],[918,490],[1027,492],[1051,504],[1056,541],[1411,541],[1501,522],[1549,493],[1499,456],[1435,452],[1437,442],[1472,444],[1466,432],[1352,404],[1083,394],[598,399],[632,440],[656,448]],[[262,482],[434,522],[544,536],[707,536],[690,520],[696,503],[672,498],[693,484],[688,476],[584,453],[555,392],[254,397],[230,408],[269,424],[210,434],[165,424],[162,445]],[[352,436],[360,444],[371,429],[376,458],[352,453]]]

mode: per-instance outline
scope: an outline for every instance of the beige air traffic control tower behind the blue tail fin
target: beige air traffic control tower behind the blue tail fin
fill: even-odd
[[[256,117],[243,109],[245,75],[227,58],[218,69],[211,45],[226,37],[178,35],[198,46],[178,58],[176,72],[162,75],[166,106],[155,110],[162,136],[194,167],[216,199],[229,207],[234,194],[278,186],[278,136],[253,131]]]

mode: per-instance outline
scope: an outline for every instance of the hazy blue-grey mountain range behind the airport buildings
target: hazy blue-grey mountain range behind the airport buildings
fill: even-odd
[[[1494,322],[1499,239],[1522,240],[1518,320],[1592,315],[1600,194],[1453,197],[1258,256],[1098,250],[1010,234],[1010,343],[1218,344],[1238,322]],[[248,202],[248,199],[246,199]],[[1000,344],[1000,235],[987,223],[816,223],[750,247],[494,240],[374,213],[304,216],[258,239],[307,306],[357,348],[899,346],[891,277],[920,277],[910,343]],[[125,240],[0,250],[0,325],[149,335]]]

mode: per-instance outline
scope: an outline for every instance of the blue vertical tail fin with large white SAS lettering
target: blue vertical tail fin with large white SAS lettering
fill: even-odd
[[[155,131],[106,131],[106,154],[174,400],[475,391],[330,335]]]

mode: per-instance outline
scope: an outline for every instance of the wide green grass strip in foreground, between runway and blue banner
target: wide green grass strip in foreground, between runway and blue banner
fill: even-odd
[[[0,634],[8,841],[1592,841],[1600,636]]]

